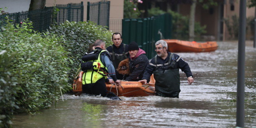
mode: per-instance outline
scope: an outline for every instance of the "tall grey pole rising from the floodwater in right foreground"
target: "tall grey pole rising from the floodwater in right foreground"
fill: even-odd
[[[238,64],[237,64],[237,100],[236,126],[245,126],[245,24],[246,0],[240,0],[239,7],[239,35],[238,35]]]

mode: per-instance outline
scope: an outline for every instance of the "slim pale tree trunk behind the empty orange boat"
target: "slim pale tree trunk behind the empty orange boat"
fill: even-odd
[[[196,0],[192,0],[190,7],[190,20],[189,20],[189,40],[194,41],[194,26],[195,26],[195,12],[196,12]]]

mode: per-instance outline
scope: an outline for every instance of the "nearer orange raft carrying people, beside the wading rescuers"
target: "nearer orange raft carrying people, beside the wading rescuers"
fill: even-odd
[[[82,93],[82,75],[83,72],[79,72],[76,79],[73,82],[73,92]],[[116,86],[115,84],[106,83],[108,91],[115,93],[117,96],[125,97],[137,97],[137,96],[149,96],[155,95],[154,91],[154,77],[150,77],[150,83],[142,84],[141,82],[126,82],[121,81],[121,85]]]

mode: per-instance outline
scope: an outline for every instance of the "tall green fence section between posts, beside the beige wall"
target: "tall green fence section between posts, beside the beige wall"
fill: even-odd
[[[109,27],[110,1],[87,2],[87,21]]]

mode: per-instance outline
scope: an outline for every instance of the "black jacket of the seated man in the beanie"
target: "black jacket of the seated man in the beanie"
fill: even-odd
[[[130,59],[129,59],[130,60]],[[148,57],[145,54],[139,55],[134,60],[130,60],[130,75],[124,76],[126,81],[139,81],[143,77],[145,68],[149,64]]]

